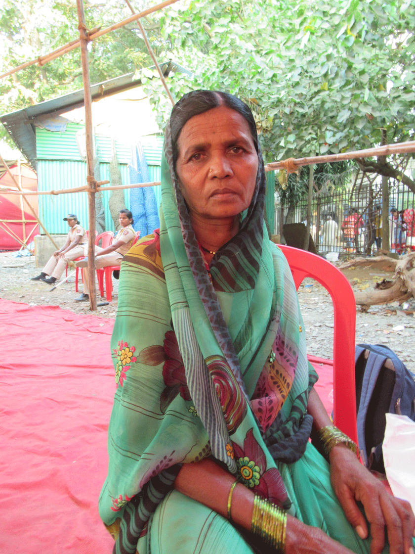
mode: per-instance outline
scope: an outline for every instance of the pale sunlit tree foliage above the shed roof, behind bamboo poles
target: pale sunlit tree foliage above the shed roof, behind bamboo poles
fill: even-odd
[[[140,0],[137,10],[142,6]],[[131,16],[127,4],[85,2],[89,29],[108,27]],[[144,21],[154,49],[165,49],[158,25]],[[76,2],[71,0],[3,0],[0,7],[0,73],[79,38]],[[151,65],[135,23],[103,35],[90,44],[90,79],[99,83]],[[32,65],[0,81],[0,112],[6,113],[82,89],[80,50],[61,55],[43,66]],[[4,130],[0,131],[0,137]]]

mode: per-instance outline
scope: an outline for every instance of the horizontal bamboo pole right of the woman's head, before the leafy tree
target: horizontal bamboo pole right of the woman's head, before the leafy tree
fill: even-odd
[[[279,169],[287,169],[287,162],[291,162],[295,167],[309,166],[312,163],[330,163],[341,160],[354,160],[355,158],[366,158],[371,156],[388,156],[393,154],[403,154],[415,152],[415,141],[396,142],[376,148],[366,148],[366,150],[355,150],[351,152],[341,152],[339,154],[328,154],[327,156],[314,156],[310,158],[297,158],[294,160],[282,160],[280,162],[268,163],[265,166],[265,171],[273,171]],[[295,171],[295,170],[294,170]],[[290,173],[290,171],[288,170]]]

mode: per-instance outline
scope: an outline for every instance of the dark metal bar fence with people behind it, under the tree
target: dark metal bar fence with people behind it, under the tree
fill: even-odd
[[[355,179],[355,183],[356,183]],[[378,179],[380,180],[380,179]],[[373,254],[378,248],[402,252],[406,244],[403,212],[415,208],[415,194],[408,187],[389,183],[388,237],[382,244],[382,184],[362,180],[359,187],[350,186],[329,194],[315,192],[312,200],[310,234],[319,253],[350,252]],[[283,234],[288,206],[275,203],[275,234]],[[307,224],[307,198],[295,206],[290,223]]]

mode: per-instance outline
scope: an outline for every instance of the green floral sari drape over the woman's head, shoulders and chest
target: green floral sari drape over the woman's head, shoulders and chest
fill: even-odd
[[[304,453],[317,376],[287,261],[264,225],[260,151],[258,160],[240,230],[208,266],[167,126],[160,230],[123,260],[112,337],[117,390],[100,515],[117,537],[115,552],[136,551],[181,464],[207,456],[256,493],[290,506],[276,461]]]

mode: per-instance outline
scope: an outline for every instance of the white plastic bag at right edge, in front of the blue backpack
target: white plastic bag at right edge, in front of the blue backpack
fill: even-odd
[[[415,512],[415,422],[387,413],[382,450],[392,493],[407,500]]]

